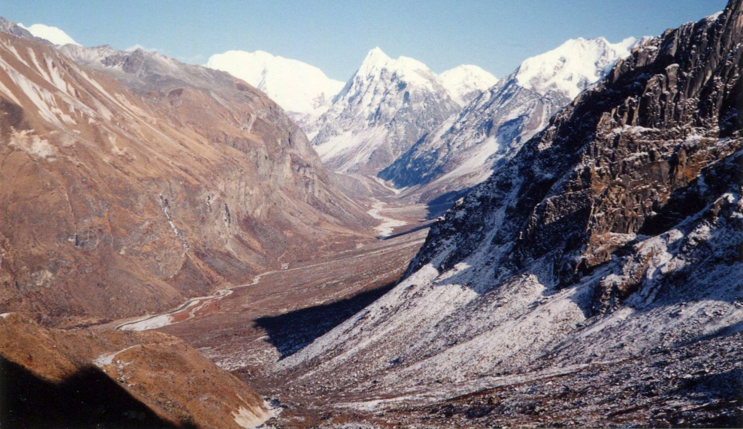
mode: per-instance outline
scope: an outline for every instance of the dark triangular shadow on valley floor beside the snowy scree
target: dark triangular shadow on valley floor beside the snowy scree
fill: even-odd
[[[283,359],[305,348],[315,338],[342,324],[352,315],[389,292],[395,282],[360,292],[357,295],[293,310],[281,315],[257,318],[256,327],[266,330],[268,342],[279,350]]]

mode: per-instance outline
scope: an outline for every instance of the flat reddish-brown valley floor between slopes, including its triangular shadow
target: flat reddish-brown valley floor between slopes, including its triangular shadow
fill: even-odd
[[[99,329],[158,329],[184,338],[256,390],[281,394],[289,382],[271,367],[395,284],[426,238],[425,206],[371,208],[380,219],[380,239],[312,261],[285,264],[256,275],[249,284],[192,298],[160,315],[130,318]]]

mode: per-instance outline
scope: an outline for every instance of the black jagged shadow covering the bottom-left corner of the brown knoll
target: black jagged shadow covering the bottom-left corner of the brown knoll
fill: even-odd
[[[0,428],[175,429],[96,367],[59,383],[0,356]]]

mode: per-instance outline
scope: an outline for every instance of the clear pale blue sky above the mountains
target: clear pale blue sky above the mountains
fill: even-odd
[[[0,0],[13,22],[65,30],[82,45],[156,48],[203,64],[224,50],[265,50],[346,80],[366,52],[412,56],[435,72],[476,64],[504,76],[565,39],[655,36],[725,0],[190,1]]]

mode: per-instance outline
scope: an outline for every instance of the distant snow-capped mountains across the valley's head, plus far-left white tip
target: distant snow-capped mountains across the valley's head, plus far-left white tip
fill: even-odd
[[[72,40],[54,27],[36,28],[37,36]],[[446,207],[646,39],[571,39],[526,59],[500,80],[476,65],[436,74],[422,62],[391,59],[379,48],[369,51],[345,84],[319,68],[260,50],[218,53],[207,67],[244,79],[274,99],[332,171],[378,175],[403,189],[405,200]]]

